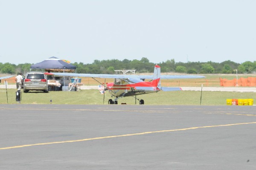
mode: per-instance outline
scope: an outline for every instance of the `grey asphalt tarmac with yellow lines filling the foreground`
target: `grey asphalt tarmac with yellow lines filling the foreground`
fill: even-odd
[[[0,104],[0,169],[255,170],[255,109]]]

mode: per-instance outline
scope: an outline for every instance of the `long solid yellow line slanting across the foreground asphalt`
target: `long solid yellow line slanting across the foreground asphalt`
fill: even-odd
[[[234,125],[242,125],[242,124],[256,124],[256,122],[239,123],[239,124],[222,124],[222,125],[213,125],[213,126],[204,126],[204,127],[189,127],[189,128],[184,128],[184,129],[175,129],[175,130],[160,130],[160,131],[153,131],[153,132],[143,132],[143,133],[133,133],[133,134],[126,134],[126,135],[114,135],[114,136],[104,136],[104,137],[98,137],[98,138],[79,139],[79,140],[73,140],[73,141],[56,141],[56,142],[39,143],[39,144],[26,144],[26,145],[13,146],[13,147],[2,147],[2,148],[0,148],[0,150],[14,149],[14,148],[20,148],[20,147],[32,147],[32,146],[47,145],[47,144],[62,144],[62,143],[71,143],[71,142],[79,142],[79,141],[90,141],[90,140],[105,139],[105,138],[117,138],[117,137],[124,137],[124,136],[133,136],[133,135],[145,135],[145,134],[150,134],[150,133],[175,132],[175,131],[181,131],[181,130],[194,130],[194,129],[208,128],[208,127],[226,127],[226,126],[234,126]]]

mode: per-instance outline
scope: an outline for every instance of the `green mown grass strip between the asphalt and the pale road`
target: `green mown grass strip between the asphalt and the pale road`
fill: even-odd
[[[7,104],[5,89],[0,89],[0,104]],[[16,101],[17,89],[7,89],[8,104],[17,104]],[[50,91],[44,92],[28,92],[23,93],[21,90],[21,104],[103,104],[104,95],[99,93],[99,90],[90,89],[82,91]],[[108,99],[111,95],[106,92],[105,105],[108,105]],[[145,95],[138,95],[137,98],[143,99],[146,105],[226,105],[226,99],[252,98],[256,99],[254,92],[210,92],[203,91],[175,91],[175,92],[157,92]],[[114,99],[114,98],[112,98]],[[119,98],[118,104],[126,103],[135,105],[134,97]],[[139,105],[139,101],[136,101]]]

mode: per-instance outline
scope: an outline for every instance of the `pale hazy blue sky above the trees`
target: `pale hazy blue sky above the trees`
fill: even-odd
[[[0,0],[0,63],[256,61],[256,0]]]

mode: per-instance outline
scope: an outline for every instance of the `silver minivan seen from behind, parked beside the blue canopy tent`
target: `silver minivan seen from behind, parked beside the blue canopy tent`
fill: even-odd
[[[48,92],[47,75],[43,72],[28,72],[25,76],[23,92],[29,90]]]

